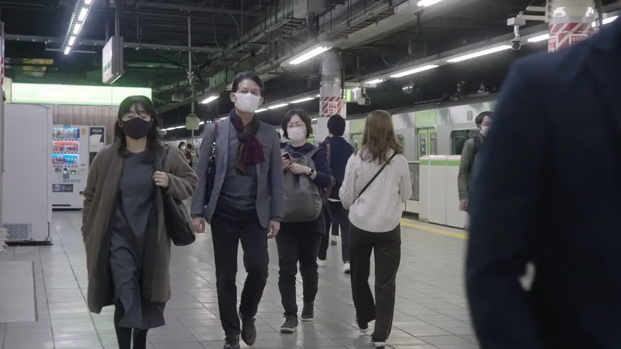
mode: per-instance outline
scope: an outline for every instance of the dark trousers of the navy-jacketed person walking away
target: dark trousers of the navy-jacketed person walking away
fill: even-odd
[[[332,225],[332,235],[338,236],[338,228],[341,229],[341,256],[343,263],[350,261],[350,221],[349,210],[343,207],[340,201],[328,201],[326,209],[329,214],[325,215],[325,235],[321,239],[319,247],[319,259],[325,260],[330,245],[330,225]]]

